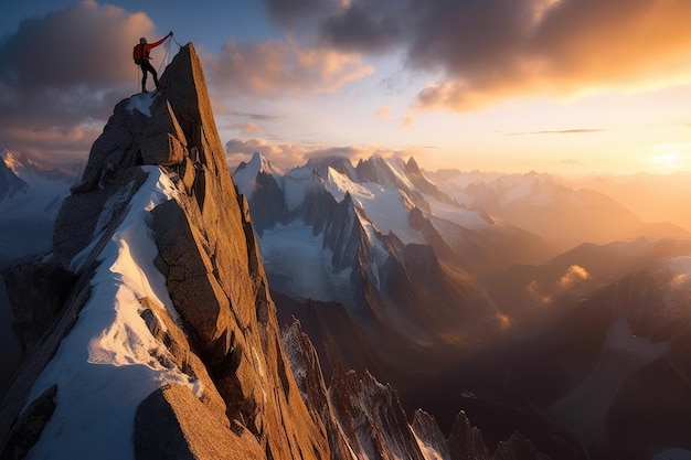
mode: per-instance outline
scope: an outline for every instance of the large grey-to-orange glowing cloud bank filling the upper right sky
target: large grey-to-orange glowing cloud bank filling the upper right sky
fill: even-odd
[[[691,76],[685,0],[265,1],[280,24],[312,21],[318,40],[333,49],[397,50],[408,68],[442,75],[419,90],[418,110]]]

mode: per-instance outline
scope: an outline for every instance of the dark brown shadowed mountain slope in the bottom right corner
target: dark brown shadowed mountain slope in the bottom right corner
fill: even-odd
[[[585,446],[602,460],[689,450],[684,267],[687,256],[662,259],[584,301],[535,311],[503,341],[428,382],[424,397],[403,400],[424,400],[443,428],[460,407],[490,447],[519,427],[552,458],[580,458],[573,452],[584,454]]]

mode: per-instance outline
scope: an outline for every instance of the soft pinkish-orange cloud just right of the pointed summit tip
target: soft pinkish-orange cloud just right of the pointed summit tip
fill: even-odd
[[[237,43],[204,58],[211,84],[225,94],[332,93],[371,75],[359,54],[302,47],[293,40]]]

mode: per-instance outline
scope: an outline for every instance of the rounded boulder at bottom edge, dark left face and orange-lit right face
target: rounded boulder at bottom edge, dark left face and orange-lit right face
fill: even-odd
[[[246,460],[266,458],[257,440],[241,426],[233,430],[182,385],[151,393],[137,408],[137,460]]]

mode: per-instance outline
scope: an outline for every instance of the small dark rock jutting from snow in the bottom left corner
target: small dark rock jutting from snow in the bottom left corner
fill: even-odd
[[[41,437],[45,424],[55,411],[57,385],[51,385],[24,409],[14,425],[2,452],[2,460],[23,459]]]

